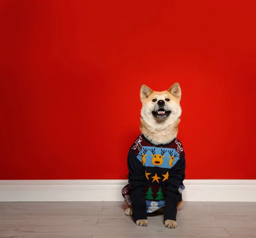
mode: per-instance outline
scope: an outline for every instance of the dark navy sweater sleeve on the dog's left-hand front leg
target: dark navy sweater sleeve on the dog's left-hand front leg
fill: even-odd
[[[147,205],[145,201],[145,167],[142,162],[137,159],[132,149],[130,149],[128,154],[128,170],[134,221],[147,219]]]

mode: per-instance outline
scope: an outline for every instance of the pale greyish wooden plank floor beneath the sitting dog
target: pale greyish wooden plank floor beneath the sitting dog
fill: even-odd
[[[256,237],[256,203],[187,202],[177,224],[136,226],[121,202],[0,203],[0,238]]]

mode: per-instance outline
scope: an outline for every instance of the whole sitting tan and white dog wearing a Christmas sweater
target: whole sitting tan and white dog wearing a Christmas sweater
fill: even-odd
[[[177,210],[185,189],[185,153],[177,139],[181,116],[181,89],[156,92],[140,89],[140,130],[128,153],[129,184],[122,189],[127,203],[125,215],[133,215],[139,226],[148,226],[147,213],[164,209],[164,224],[176,228]]]

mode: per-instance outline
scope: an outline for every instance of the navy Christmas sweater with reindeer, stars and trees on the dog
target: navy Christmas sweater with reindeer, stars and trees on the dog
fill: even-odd
[[[178,139],[153,145],[143,134],[128,153],[128,180],[134,220],[164,207],[164,221],[176,221],[177,203],[184,189],[185,153]]]

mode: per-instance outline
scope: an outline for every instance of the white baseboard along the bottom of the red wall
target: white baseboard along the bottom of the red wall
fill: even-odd
[[[127,180],[0,180],[0,202],[123,201]],[[256,202],[256,180],[185,180],[185,201]]]

